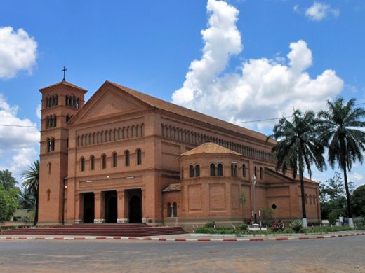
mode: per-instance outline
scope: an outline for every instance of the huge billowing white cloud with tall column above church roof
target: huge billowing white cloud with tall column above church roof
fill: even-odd
[[[287,116],[293,109],[324,109],[326,99],[343,89],[336,71],[328,69],[310,76],[306,70],[313,63],[312,50],[303,40],[290,43],[286,57],[248,59],[236,73],[225,73],[230,57],[243,48],[236,27],[239,12],[215,0],[208,1],[207,9],[208,29],[201,31],[203,55],[192,61],[183,87],[173,93],[175,104],[242,122]],[[261,130],[272,123],[247,125]]]

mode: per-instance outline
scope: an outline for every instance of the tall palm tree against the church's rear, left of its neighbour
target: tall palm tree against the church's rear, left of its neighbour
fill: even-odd
[[[296,110],[291,122],[281,118],[274,125],[273,134],[269,137],[279,140],[272,147],[272,153],[277,160],[277,171],[282,169],[285,174],[288,168],[292,169],[293,178],[300,177],[300,193],[302,195],[303,227],[307,228],[307,214],[305,211],[304,176],[305,169],[312,176],[312,165],[320,171],[326,169],[323,156],[323,139],[317,130],[317,118],[313,111],[302,113]],[[269,138],[267,137],[267,139]]]

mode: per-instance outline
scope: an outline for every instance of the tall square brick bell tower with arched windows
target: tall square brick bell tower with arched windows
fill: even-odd
[[[67,122],[84,106],[87,92],[65,78],[39,90],[41,148],[39,160],[39,225],[62,223],[68,163]]]

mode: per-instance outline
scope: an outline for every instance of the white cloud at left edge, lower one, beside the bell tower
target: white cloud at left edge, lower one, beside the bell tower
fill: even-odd
[[[36,158],[40,138],[36,124],[17,113],[18,106],[9,105],[0,94],[0,169],[10,169],[15,176]]]

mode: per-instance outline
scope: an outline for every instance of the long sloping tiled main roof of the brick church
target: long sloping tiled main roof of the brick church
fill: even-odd
[[[106,83],[110,83],[110,84],[114,85],[115,87],[118,87],[119,89],[124,90],[128,94],[131,94],[133,97],[137,97],[138,99],[142,100],[142,102],[145,102],[146,104],[149,104],[150,106],[156,107],[157,109],[162,109],[164,111],[175,113],[180,116],[185,116],[187,118],[192,118],[194,120],[201,120],[204,123],[208,123],[208,124],[215,125],[218,127],[223,127],[227,130],[231,130],[233,132],[239,132],[240,134],[245,134],[250,137],[254,137],[256,139],[261,139],[263,141],[266,141],[266,139],[267,139],[267,136],[265,136],[265,134],[261,134],[259,132],[255,132],[253,130],[249,130],[249,129],[241,127],[241,126],[234,125],[232,123],[227,123],[224,120],[220,120],[218,118],[213,118],[211,116],[205,115],[204,113],[199,113],[197,111],[187,109],[183,106],[172,104],[171,102],[166,102],[162,99],[157,99],[156,97],[152,97],[148,94],[138,92],[136,90],[119,85],[117,83],[112,83],[109,80],[107,80]],[[272,141],[273,140],[270,139],[269,142],[273,143]]]

